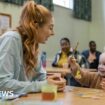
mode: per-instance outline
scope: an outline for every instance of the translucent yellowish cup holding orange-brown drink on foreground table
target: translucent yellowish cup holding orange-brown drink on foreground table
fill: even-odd
[[[46,84],[42,86],[42,100],[53,101],[57,97],[57,86],[52,84]]]

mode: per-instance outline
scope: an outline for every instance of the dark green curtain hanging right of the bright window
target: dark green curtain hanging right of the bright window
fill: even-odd
[[[91,0],[74,0],[75,18],[91,21]]]

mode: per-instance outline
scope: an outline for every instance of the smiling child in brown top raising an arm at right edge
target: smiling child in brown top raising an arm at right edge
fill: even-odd
[[[105,90],[105,52],[100,55],[98,72],[89,72],[80,68],[74,57],[70,57],[68,63],[71,74],[82,86]]]

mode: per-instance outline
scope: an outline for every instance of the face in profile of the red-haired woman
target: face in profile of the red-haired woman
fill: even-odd
[[[45,25],[38,28],[38,43],[45,43],[50,36],[54,35],[53,27],[54,19],[51,18]]]

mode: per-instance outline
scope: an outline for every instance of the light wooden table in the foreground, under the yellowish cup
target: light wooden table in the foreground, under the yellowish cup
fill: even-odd
[[[21,97],[18,100],[15,100],[15,104],[13,105],[19,105],[18,103],[22,101],[35,102],[38,100],[42,101],[41,93],[28,94],[27,97]],[[72,87],[66,92],[58,92],[56,101],[61,101],[62,105],[105,105],[105,91],[90,88]]]

